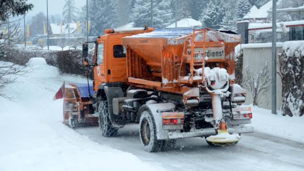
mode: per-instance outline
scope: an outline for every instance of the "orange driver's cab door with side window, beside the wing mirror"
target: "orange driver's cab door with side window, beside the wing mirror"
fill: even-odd
[[[94,67],[94,84],[100,85],[102,82],[107,82],[106,70],[106,58],[104,56],[104,41],[98,41],[95,47],[95,65]]]

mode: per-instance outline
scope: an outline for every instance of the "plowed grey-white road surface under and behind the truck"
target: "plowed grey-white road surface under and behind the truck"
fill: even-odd
[[[117,137],[102,137],[98,127],[76,132],[100,144],[130,152],[139,159],[157,162],[172,171],[303,171],[304,143],[255,132],[242,135],[235,146],[211,147],[204,138],[179,139],[172,151],[147,153],[139,140],[138,125],[130,124]]]

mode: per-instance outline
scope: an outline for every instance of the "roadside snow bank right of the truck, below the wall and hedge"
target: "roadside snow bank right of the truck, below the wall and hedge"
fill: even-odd
[[[304,117],[274,115],[271,110],[250,106],[255,131],[304,142],[304,134],[301,134],[301,130],[304,130]]]

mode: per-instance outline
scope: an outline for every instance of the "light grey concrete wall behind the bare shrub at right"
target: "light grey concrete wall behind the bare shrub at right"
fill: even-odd
[[[248,44],[250,45],[250,44]],[[270,86],[266,93],[263,96],[260,96],[258,99],[258,106],[271,109],[271,45],[269,44],[265,46],[265,44],[261,44],[261,46],[245,46],[243,49],[243,74],[245,73],[245,67],[247,66],[252,72],[253,75],[256,75],[258,72],[262,70],[265,66],[266,61],[268,60],[268,69],[270,76]],[[277,47],[277,54],[282,51],[282,47]],[[277,56],[278,60],[278,56]],[[278,68],[278,66],[277,66]],[[282,82],[281,78],[278,74],[276,74],[276,106],[279,110],[282,104]],[[247,98],[246,104],[253,103],[252,94],[247,90]]]

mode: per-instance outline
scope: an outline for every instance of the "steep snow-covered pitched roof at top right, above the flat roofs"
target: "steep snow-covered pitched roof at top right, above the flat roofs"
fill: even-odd
[[[280,0],[278,0],[279,2]],[[276,2],[278,4],[278,2]],[[249,12],[243,17],[243,19],[250,19],[250,18],[267,18],[268,13],[267,11],[272,8],[272,0],[267,2],[263,5],[260,9],[256,6],[253,6]]]

